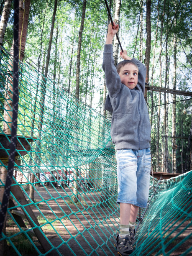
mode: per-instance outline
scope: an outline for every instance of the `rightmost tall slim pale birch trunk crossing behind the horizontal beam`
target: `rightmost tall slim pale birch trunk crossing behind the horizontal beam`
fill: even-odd
[[[174,25],[176,26],[176,20],[174,21]],[[176,90],[176,69],[177,69],[177,34],[174,33],[174,72],[173,72],[173,90]],[[176,95],[173,95],[173,113],[172,113],[172,172],[177,173],[177,166],[176,166]]]

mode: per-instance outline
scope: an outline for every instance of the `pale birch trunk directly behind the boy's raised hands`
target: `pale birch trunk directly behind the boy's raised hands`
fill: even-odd
[[[116,0],[116,5],[115,5],[115,17],[114,17],[114,22],[115,24],[119,24],[119,19],[120,19],[120,5],[121,5],[121,0]],[[118,31],[119,35],[119,31]],[[114,37],[114,44],[113,44],[113,58],[115,61],[115,66],[118,64],[118,53],[119,53],[119,43],[118,39],[115,36]]]

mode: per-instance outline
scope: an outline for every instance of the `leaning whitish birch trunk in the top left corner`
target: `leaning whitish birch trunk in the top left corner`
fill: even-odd
[[[10,15],[11,2],[12,0],[5,0],[4,7],[3,7],[3,13],[0,21],[0,45],[1,46],[3,46],[5,30],[6,30],[9,15]]]

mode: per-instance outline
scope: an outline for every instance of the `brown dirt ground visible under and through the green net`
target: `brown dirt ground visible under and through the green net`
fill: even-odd
[[[42,225],[42,230],[47,239],[50,241],[52,247],[56,248],[47,255],[56,256],[59,255],[59,253],[67,256],[117,255],[114,241],[119,223],[119,210],[115,204],[111,204],[111,207],[107,207],[107,205],[106,207],[100,207],[100,193],[95,193],[91,190],[90,192],[83,192],[82,190],[79,198],[81,204],[79,203],[77,205],[70,200],[72,191],[70,191],[69,188],[66,188],[65,190],[61,188],[57,188],[57,190],[48,188],[48,191],[49,193],[44,187],[36,187],[34,195],[35,204],[31,206],[40,225]],[[27,220],[25,223],[27,227],[30,228]],[[186,225],[187,223],[184,222],[179,229],[182,230]],[[18,231],[19,229],[8,216],[6,229],[7,235],[12,235]],[[172,237],[177,236],[177,233],[174,232]],[[167,251],[171,250],[172,247],[189,234],[192,234],[191,227],[176,238],[174,244],[170,244]],[[22,256],[44,254],[44,250],[36,236],[31,237],[33,246],[31,246],[30,242],[25,239],[24,235],[20,235],[20,237],[18,237],[18,240],[20,241],[14,241],[14,238],[11,240],[14,241],[13,243],[15,243],[15,246],[17,246],[18,251]],[[21,243],[22,241],[25,244],[24,246]],[[174,251],[165,255],[178,256],[190,247],[192,247],[192,237],[184,241],[182,246],[177,248],[177,252]],[[16,251],[11,248],[10,243],[8,243],[5,255],[15,256],[18,255],[18,253],[16,253]],[[136,254],[133,253],[133,255]],[[144,256],[146,254],[140,255]],[[154,252],[147,255],[160,256],[161,254],[156,254],[156,252]],[[192,251],[182,255],[192,256]]]

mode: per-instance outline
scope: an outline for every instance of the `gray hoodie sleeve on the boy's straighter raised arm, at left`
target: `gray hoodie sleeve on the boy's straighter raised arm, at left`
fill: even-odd
[[[120,91],[121,81],[114,65],[112,44],[105,44],[104,46],[102,69],[105,72],[106,86],[109,95],[113,97]]]

